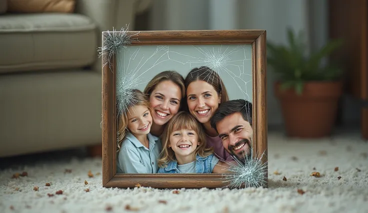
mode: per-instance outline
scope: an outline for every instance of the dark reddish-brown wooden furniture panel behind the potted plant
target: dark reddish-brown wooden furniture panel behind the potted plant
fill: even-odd
[[[342,65],[347,91],[355,98],[368,99],[368,1],[329,0],[328,5],[329,37],[344,39],[342,48],[330,58]]]

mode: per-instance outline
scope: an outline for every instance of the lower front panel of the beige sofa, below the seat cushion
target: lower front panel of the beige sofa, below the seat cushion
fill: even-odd
[[[0,75],[0,157],[101,144],[101,98],[92,70]]]

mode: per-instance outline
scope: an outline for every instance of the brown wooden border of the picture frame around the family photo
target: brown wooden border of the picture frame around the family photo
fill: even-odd
[[[205,45],[251,44],[253,155],[264,163],[267,178],[267,106],[266,106],[266,31],[265,30],[175,30],[175,31],[103,31],[102,47],[111,33],[124,33],[128,45]],[[102,48],[102,186],[132,188],[217,188],[227,187],[223,174],[117,174],[116,173],[116,49]]]

